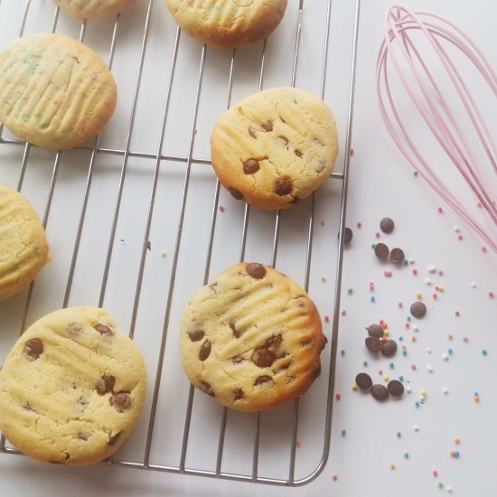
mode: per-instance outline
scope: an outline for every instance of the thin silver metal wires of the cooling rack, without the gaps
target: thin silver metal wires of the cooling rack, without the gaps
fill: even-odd
[[[23,35],[26,19],[31,7],[31,0],[27,0],[24,5],[23,16],[21,20],[21,27],[19,31],[19,35]],[[324,36],[324,46],[323,48],[323,64],[322,64],[322,72],[320,75],[321,78],[321,89],[320,95],[324,98],[324,89],[326,85],[326,69],[328,64],[328,52],[329,52],[329,38],[330,38],[330,26],[331,26],[331,18],[332,18],[332,0],[328,0],[326,3],[326,18],[325,18],[325,36]],[[337,336],[338,336],[338,323],[339,323],[339,309],[340,309],[340,289],[342,283],[342,253],[343,253],[343,239],[342,233],[344,229],[344,221],[345,221],[345,211],[347,204],[347,186],[348,186],[348,178],[349,178],[349,150],[351,145],[351,136],[352,136],[352,108],[353,108],[353,98],[354,98],[354,75],[355,75],[355,58],[356,58],[356,43],[358,36],[358,24],[359,24],[359,14],[360,14],[360,0],[356,0],[355,3],[355,15],[354,15],[354,26],[353,26],[353,46],[352,46],[352,64],[351,64],[351,74],[350,74],[350,90],[348,94],[348,117],[347,117],[347,127],[346,127],[346,136],[344,139],[344,150],[346,151],[344,154],[344,164],[343,164],[343,172],[342,173],[333,173],[331,176],[332,182],[338,182],[340,184],[340,192],[341,192],[341,200],[340,200],[340,216],[338,221],[337,230],[340,232],[339,238],[339,246],[337,249],[337,260],[336,260],[336,273],[335,273],[335,283],[334,283],[334,302],[333,302],[333,329],[331,333],[331,347],[330,347],[330,367],[328,371],[328,378],[326,382],[326,390],[325,390],[325,407],[326,412],[324,415],[324,444],[323,444],[323,454],[321,456],[321,460],[319,464],[315,467],[314,471],[311,474],[308,474],[304,478],[295,478],[295,461],[296,461],[296,447],[297,447],[297,434],[299,428],[299,412],[300,412],[300,401],[296,399],[294,401],[292,407],[292,422],[291,422],[291,430],[287,433],[287,436],[290,438],[290,455],[289,455],[289,467],[286,478],[277,478],[277,477],[267,477],[259,474],[259,441],[260,441],[260,433],[261,433],[261,417],[263,416],[261,413],[257,413],[254,419],[253,426],[253,445],[252,445],[252,462],[251,462],[251,472],[248,474],[235,474],[222,471],[223,464],[223,455],[225,449],[225,441],[226,441],[226,430],[228,418],[230,417],[230,412],[227,408],[222,408],[221,411],[221,419],[220,419],[220,433],[218,438],[218,449],[217,456],[215,460],[215,468],[214,469],[197,469],[193,467],[189,467],[187,464],[187,452],[189,444],[191,443],[191,423],[192,423],[192,409],[193,409],[193,399],[195,398],[195,389],[193,389],[192,385],[190,386],[188,392],[188,399],[186,405],[186,412],[184,415],[184,424],[183,424],[183,441],[181,445],[181,454],[179,456],[179,463],[170,465],[170,464],[157,464],[153,460],[152,456],[152,445],[155,440],[155,432],[156,426],[159,422],[157,417],[157,406],[160,399],[161,393],[161,381],[164,373],[164,357],[166,346],[168,344],[168,333],[171,329],[171,314],[173,309],[173,295],[175,291],[175,283],[176,283],[176,272],[178,267],[178,260],[180,254],[182,252],[182,243],[183,243],[183,222],[185,218],[185,210],[186,203],[188,199],[188,193],[191,183],[191,173],[192,173],[192,165],[193,164],[211,164],[209,159],[205,159],[202,157],[194,156],[194,145],[195,145],[195,137],[196,137],[196,129],[197,129],[197,118],[199,115],[199,105],[202,94],[202,83],[204,79],[204,70],[206,63],[206,54],[209,49],[205,45],[202,48],[202,57],[200,61],[200,67],[198,70],[198,80],[196,82],[196,94],[194,100],[194,108],[192,115],[192,123],[191,123],[191,131],[189,138],[189,147],[188,153],[186,155],[166,155],[164,154],[164,137],[166,136],[166,129],[171,126],[169,122],[170,115],[170,104],[172,102],[172,89],[173,89],[173,80],[177,70],[177,60],[178,60],[178,52],[180,46],[180,40],[182,38],[182,33],[178,28],[175,34],[174,42],[173,42],[173,56],[171,59],[171,65],[169,68],[169,75],[167,80],[167,90],[164,101],[164,108],[162,111],[162,120],[160,125],[160,133],[159,140],[156,145],[155,152],[149,151],[138,151],[132,150],[132,136],[135,130],[135,119],[136,119],[136,108],[138,105],[138,97],[142,82],[142,73],[144,68],[145,61],[145,53],[147,50],[148,43],[148,33],[150,30],[150,24],[152,20],[153,14],[153,5],[154,0],[148,0],[146,3],[146,14],[145,14],[145,24],[143,26],[144,36],[141,43],[140,55],[138,68],[136,71],[136,81],[134,90],[132,93],[132,104],[129,116],[129,122],[127,126],[127,136],[125,141],[125,146],[123,148],[106,148],[100,146],[100,136],[97,136],[91,145],[80,146],[74,149],[76,152],[89,154],[88,161],[88,173],[86,177],[86,184],[84,188],[84,193],[82,196],[82,202],[80,205],[80,215],[77,220],[78,227],[76,230],[75,238],[73,241],[72,253],[70,256],[70,267],[69,274],[67,277],[67,281],[65,283],[65,291],[63,295],[63,303],[62,306],[65,307],[69,305],[71,290],[74,282],[75,268],[77,266],[77,262],[80,256],[80,242],[82,231],[85,227],[85,222],[87,220],[87,209],[89,207],[89,198],[90,198],[90,190],[92,186],[93,176],[95,174],[95,164],[98,161],[98,158],[103,155],[112,155],[118,157],[121,161],[120,165],[120,173],[119,180],[117,186],[117,196],[116,203],[114,206],[114,210],[112,213],[112,221],[111,228],[108,237],[107,243],[107,251],[105,255],[105,264],[103,268],[103,273],[101,276],[101,286],[100,292],[98,296],[98,306],[103,306],[106,293],[108,291],[108,277],[109,277],[109,269],[111,266],[111,262],[114,255],[114,250],[116,248],[116,238],[117,238],[117,225],[119,221],[119,215],[121,212],[121,202],[123,199],[123,192],[125,188],[125,183],[127,180],[127,167],[130,158],[142,158],[148,159],[154,162],[153,167],[153,180],[152,180],[152,188],[149,192],[149,201],[147,206],[146,220],[145,220],[145,232],[143,236],[143,242],[141,244],[141,253],[139,257],[139,268],[137,271],[136,282],[130,282],[135,285],[135,296],[133,302],[133,308],[131,312],[131,319],[129,322],[129,336],[131,338],[135,337],[136,333],[136,323],[137,323],[137,315],[139,312],[141,299],[142,299],[142,290],[144,285],[144,274],[147,257],[150,253],[150,233],[152,229],[152,223],[155,214],[155,203],[157,199],[157,188],[159,183],[160,173],[164,168],[164,163],[180,163],[184,166],[184,178],[183,178],[183,192],[181,195],[181,203],[179,207],[179,216],[176,226],[176,236],[173,248],[173,259],[171,266],[171,274],[169,277],[168,288],[167,288],[167,299],[165,302],[164,308],[164,320],[162,324],[162,333],[160,333],[160,341],[158,343],[158,358],[155,367],[155,377],[154,383],[152,387],[152,397],[150,399],[150,408],[148,409],[148,417],[147,424],[145,427],[145,448],[143,454],[139,457],[138,461],[132,461],[127,457],[119,457],[119,453],[117,455],[108,460],[107,463],[116,466],[129,467],[129,468],[137,468],[137,469],[147,469],[147,470],[155,470],[161,472],[170,472],[170,473],[179,473],[179,474],[195,474],[202,476],[209,476],[214,478],[223,478],[230,480],[238,480],[238,481],[246,481],[246,482],[256,482],[256,483],[270,483],[276,485],[287,485],[287,486],[296,486],[303,485],[305,483],[309,483],[314,478],[322,472],[324,469],[324,465],[327,462],[329,451],[330,451],[330,438],[331,438],[331,422],[332,422],[332,413],[333,413],[333,384],[334,384],[334,376],[335,376],[335,364],[336,364],[336,353],[337,353]],[[292,64],[292,75],[291,75],[291,86],[295,86],[295,78],[298,69],[299,62],[299,49],[301,44],[301,33],[303,28],[303,20],[304,20],[304,11],[305,11],[305,0],[299,0],[298,5],[298,16],[296,23],[296,31],[295,31],[295,46],[293,50],[293,64]],[[54,8],[53,21],[52,21],[52,33],[57,31],[58,23],[59,23],[60,11],[59,7]],[[120,15],[118,14],[113,23],[112,37],[110,42],[110,47],[108,50],[108,66],[112,69],[112,64],[114,61],[114,55],[117,47],[117,32],[119,30],[120,24]],[[80,41],[85,41],[85,35],[87,33],[87,21],[81,23],[80,26]],[[231,98],[232,98],[232,85],[233,78],[236,68],[237,61],[237,50],[233,50],[230,55],[230,77],[228,82],[228,89],[226,95],[226,108],[230,108]],[[267,69],[267,41],[262,45],[262,52],[260,56],[260,73],[259,73],[259,84],[258,89],[261,90],[264,88],[264,80],[265,80],[265,71]],[[21,168],[17,181],[17,189],[19,191],[23,188],[24,176],[26,173],[27,164],[30,159],[30,153],[32,151],[32,145],[25,143],[23,141],[14,139],[14,138],[6,138],[4,135],[4,127],[3,125],[0,127],[0,151],[2,147],[23,147],[23,155]],[[44,207],[44,212],[42,216],[42,224],[43,227],[47,227],[47,223],[50,219],[51,209],[52,209],[52,198],[54,189],[57,183],[58,174],[61,166],[61,156],[65,154],[65,152],[57,152],[55,153],[53,166],[52,166],[52,177],[50,180],[49,192],[46,200],[46,204]],[[317,193],[319,194],[319,193]],[[314,226],[315,226],[315,205],[316,205],[316,193],[314,192],[311,201],[309,202],[309,211],[307,215],[307,230],[306,230],[306,249],[305,249],[305,281],[304,287],[305,290],[309,289],[309,280],[311,274],[311,264],[312,264],[312,254],[313,254],[313,240],[314,240]],[[205,266],[203,273],[203,284],[206,284],[211,275],[211,256],[212,256],[212,248],[214,243],[214,237],[216,233],[216,226],[218,221],[218,213],[220,208],[220,182],[217,181],[215,183],[215,188],[213,192],[213,202],[211,207],[211,221],[210,221],[210,230],[209,230],[209,240],[207,243],[207,251],[205,254]],[[242,261],[246,257],[246,247],[247,247],[247,237],[248,237],[248,221],[250,217],[250,207],[248,204],[245,205],[245,209],[243,211],[243,219],[242,221],[242,231],[241,231],[241,240],[239,247],[239,260]],[[277,267],[277,256],[278,256],[278,244],[280,241],[280,226],[281,226],[281,213],[277,211],[273,232],[273,242],[272,242],[272,254],[270,264],[273,267]],[[171,227],[169,227],[171,228]],[[25,297],[25,304],[23,306],[23,318],[21,324],[21,333],[26,327],[28,321],[28,314],[30,310],[30,306],[32,304],[33,299],[33,288],[35,284],[32,284],[27,292]],[[8,453],[8,454],[19,454],[18,451],[6,444],[5,437],[2,436],[0,440],[0,452]]]

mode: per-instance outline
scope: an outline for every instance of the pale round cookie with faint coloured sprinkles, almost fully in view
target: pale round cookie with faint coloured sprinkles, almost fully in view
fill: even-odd
[[[107,124],[116,100],[107,65],[68,36],[24,36],[0,52],[0,121],[34,145],[85,143]]]

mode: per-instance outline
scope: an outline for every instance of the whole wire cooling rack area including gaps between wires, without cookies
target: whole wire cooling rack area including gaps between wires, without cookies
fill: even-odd
[[[327,462],[360,0],[289,4],[269,40],[220,51],[184,36],[162,1],[78,23],[49,0],[0,0],[2,46],[23,34],[69,34],[97,51],[117,80],[115,116],[85,146],[46,151],[0,127],[0,181],[33,203],[52,247],[41,277],[0,303],[0,352],[57,308],[98,305],[115,315],[144,353],[150,389],[133,434],[108,464],[294,486]],[[330,180],[276,213],[232,200],[208,158],[217,117],[274,86],[324,98],[341,136]],[[196,392],[178,358],[183,305],[239,260],[300,282],[329,338],[312,389],[263,413],[229,411]],[[19,454],[3,436],[0,451]]]

